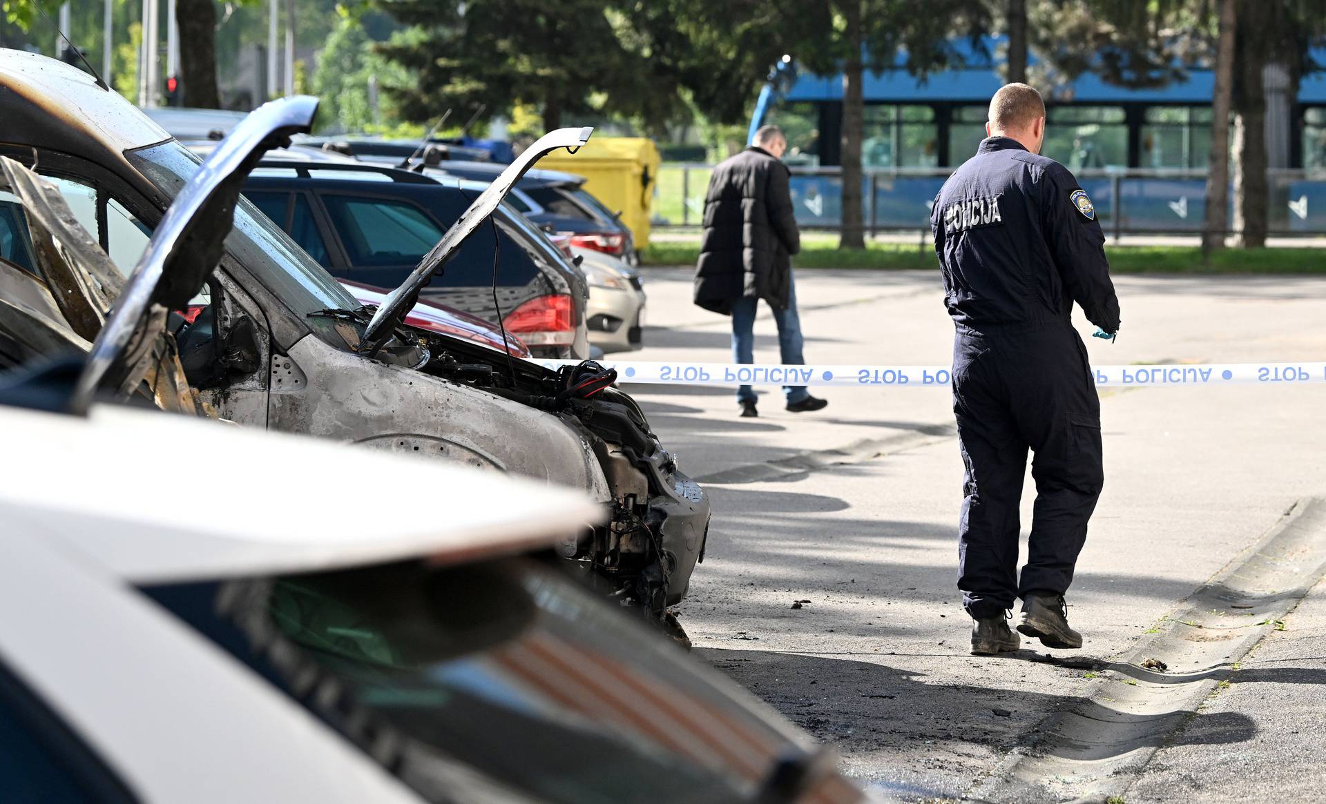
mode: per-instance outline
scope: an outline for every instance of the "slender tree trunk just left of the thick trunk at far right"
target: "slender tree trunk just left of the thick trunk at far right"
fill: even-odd
[[[1240,245],[1266,245],[1266,86],[1264,73],[1269,49],[1265,7],[1261,0],[1238,0],[1235,12],[1235,229]]]

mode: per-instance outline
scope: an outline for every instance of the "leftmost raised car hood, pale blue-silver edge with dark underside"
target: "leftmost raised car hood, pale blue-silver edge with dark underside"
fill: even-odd
[[[207,282],[235,221],[235,204],[263,154],[313,126],[318,101],[294,95],[264,103],[207,156],[175,196],[97,332],[74,389],[73,409],[98,392],[123,399],[160,363],[166,317]]]

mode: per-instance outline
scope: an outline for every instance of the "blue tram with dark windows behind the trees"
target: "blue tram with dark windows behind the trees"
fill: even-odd
[[[985,50],[996,53],[997,40]],[[1326,64],[1326,50],[1317,54]],[[1001,86],[997,65],[968,50],[960,69],[918,79],[903,69],[867,74],[866,223],[875,230],[918,229],[947,174],[985,136],[987,105]],[[1270,228],[1326,233],[1326,74],[1309,74],[1290,97],[1288,79],[1266,73]],[[1197,232],[1204,217],[1213,75],[1126,89],[1082,75],[1048,98],[1045,154],[1071,168],[1114,232]],[[797,171],[797,213],[808,226],[837,226],[842,77],[798,75],[752,121],[788,132]],[[768,93],[766,93],[768,94]],[[760,111],[757,111],[760,114]],[[1232,139],[1232,138],[1231,138]]]

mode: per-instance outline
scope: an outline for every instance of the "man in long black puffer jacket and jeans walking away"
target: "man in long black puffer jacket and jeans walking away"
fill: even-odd
[[[704,236],[695,270],[695,303],[732,317],[732,358],[754,362],[754,314],[760,299],[773,310],[784,366],[801,366],[804,338],[792,279],[801,234],[792,213],[788,168],[780,162],[788,139],[764,126],[754,144],[713,168],[704,199]],[[818,411],[829,403],[805,385],[785,385],[788,409]],[[751,385],[737,389],[741,416],[758,416]]]

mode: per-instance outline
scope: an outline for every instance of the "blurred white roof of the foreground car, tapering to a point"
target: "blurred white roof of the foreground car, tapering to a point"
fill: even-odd
[[[158,411],[0,407],[0,522],[134,583],[460,563],[546,547],[601,518],[583,494],[507,474]],[[427,502],[369,491],[394,478]]]

